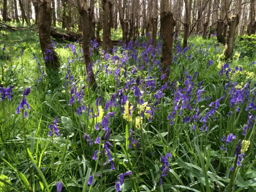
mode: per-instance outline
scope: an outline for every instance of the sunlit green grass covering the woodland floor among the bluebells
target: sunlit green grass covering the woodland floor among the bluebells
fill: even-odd
[[[120,29],[117,32],[112,31],[112,39],[122,39],[122,31]],[[54,39],[53,42],[55,42]],[[250,140],[250,145],[241,166],[235,170],[232,191],[255,190],[254,117],[256,113],[252,108],[246,110],[250,102],[255,103],[256,69],[252,64],[256,60],[255,53],[245,54],[246,49],[241,49],[239,43],[236,44],[234,56],[238,55],[235,54],[236,51],[244,56],[234,57],[229,68],[234,71],[236,66],[239,68],[241,66],[243,72],[229,73],[226,78],[225,73],[219,76],[220,68],[218,67],[225,64],[222,60],[224,46],[217,43],[216,37],[204,40],[201,36],[192,35],[189,38],[190,48],[186,52],[179,51],[179,47],[182,46],[180,44],[182,37],[180,37],[174,42],[174,62],[170,67],[168,88],[164,88],[164,82],[160,78],[162,72],[158,70],[161,57],[161,52],[158,51],[161,46],[157,48],[158,44],[156,47],[150,45],[144,48],[142,46],[144,42],[147,44],[146,38],[138,38],[140,45],[137,44],[134,49],[123,50],[122,46],[116,46],[116,52],[107,60],[101,52],[97,55],[92,51],[92,62],[98,84],[98,88],[93,92],[86,86],[87,79],[84,76],[84,63],[79,44],[74,43],[77,54],[73,54],[70,48],[64,48],[69,42],[56,42],[55,47],[60,56],[61,67],[58,72],[52,72],[46,70],[44,66],[38,34],[30,31],[1,32],[0,47],[6,45],[6,50],[4,51],[5,59],[3,59],[3,52],[0,52],[0,82],[5,88],[14,85],[14,94],[12,100],[5,98],[0,102],[0,156],[2,159],[0,175],[8,178],[5,181],[6,178],[0,176],[0,188],[7,186],[9,191],[20,192],[31,191],[31,187],[34,191],[56,191],[57,182],[61,181],[62,191],[110,192],[115,190],[116,180],[120,183],[119,174],[132,171],[131,175],[124,176],[124,184],[121,186],[123,192],[132,190],[225,191],[232,174],[230,168],[234,165],[236,144],[239,139],[245,139]],[[238,39],[236,42],[239,42]],[[161,43],[159,39],[158,43]],[[21,55],[22,47],[24,53]],[[142,52],[144,52],[143,55],[141,55]],[[33,59],[33,53],[41,69],[38,68],[36,59]],[[118,57],[115,62],[113,62],[114,56]],[[70,57],[69,60],[67,60],[68,57]],[[213,64],[208,65],[209,61],[213,61]],[[85,85],[82,102],[78,102],[75,98],[76,101],[72,106],[68,105],[71,98],[70,81],[67,87],[64,87],[68,69],[74,76],[72,82],[77,81],[77,92]],[[42,76],[42,70],[46,70],[47,75],[42,82],[38,82]],[[198,72],[196,78],[194,78],[195,72]],[[146,111],[142,112],[144,115],[141,120],[137,123],[135,120],[140,116],[136,103],[138,98],[134,96],[138,77],[141,81],[138,86],[142,92],[140,98],[144,102],[151,99],[148,107],[154,111],[152,121],[146,118]],[[147,87],[148,81],[154,84],[153,87]],[[202,85],[198,88],[198,83],[202,81]],[[225,89],[229,81],[230,87]],[[245,92],[243,88],[246,83],[250,83],[251,90],[248,92],[250,98],[244,93],[246,99],[243,102],[237,101],[232,108],[229,101],[232,98],[230,90],[234,82],[241,85],[237,90]],[[30,94],[26,96],[31,109],[28,110],[28,118],[24,118],[23,126],[22,114],[16,114],[16,108],[22,99],[23,90],[27,87],[31,88]],[[179,102],[175,102],[178,87],[182,88],[179,90],[182,94],[191,97],[189,100],[191,110],[188,108],[180,110],[182,101],[185,102],[185,100],[180,99]],[[192,90],[186,95],[189,88]],[[125,103],[118,105],[120,89],[131,105],[134,105],[130,122],[121,114],[121,108]],[[196,95],[198,89],[204,90],[199,101]],[[114,94],[116,98],[111,100]],[[159,95],[159,98],[155,95]],[[92,159],[95,150],[102,151],[101,144],[104,143],[106,133],[106,130],[101,129],[101,124],[99,124],[100,130],[94,129],[96,122],[102,121],[99,120],[100,117],[93,116],[91,111],[93,108],[96,112],[96,99],[99,96],[101,96],[104,116],[108,112],[115,112],[114,117],[109,118],[108,124],[108,128],[112,129],[109,138],[109,142],[113,145],[113,147],[109,146],[110,155],[115,166],[115,170],[112,171],[110,171],[110,163],[103,165],[109,159],[107,154],[102,156],[98,153],[98,159]],[[218,108],[215,109],[214,118],[208,117],[202,132],[200,128],[204,122],[200,122],[200,119],[212,109],[209,106],[211,102],[215,102],[222,96],[224,99],[220,100]],[[110,101],[115,102],[117,106],[109,106],[106,110],[105,103]],[[156,101],[157,104],[154,105]],[[92,118],[89,118],[87,111],[84,110],[82,115],[76,114],[77,108],[82,104],[86,109],[89,105],[92,107],[90,109]],[[168,116],[174,110],[175,104],[179,105],[179,109],[174,114],[174,118],[171,118],[173,124],[170,125]],[[236,112],[238,107],[240,110]],[[196,108],[199,109],[198,120],[184,122],[184,118],[192,118],[196,114]],[[229,112],[232,112],[230,117]],[[248,124],[248,112],[253,115],[252,126],[243,136],[242,129]],[[49,137],[48,126],[54,122],[55,116],[58,116],[60,136]],[[140,129],[136,127],[138,124]],[[193,130],[194,124],[196,130]],[[24,127],[28,148],[24,144]],[[130,128],[133,130],[132,136],[135,141],[138,139],[140,148],[136,148],[136,142],[128,148]],[[230,133],[234,134],[236,139],[226,145],[221,139]],[[98,136],[102,136],[101,144],[90,146],[89,142],[83,139],[84,134],[90,134],[93,141]],[[227,148],[227,152],[221,150],[222,145]],[[28,152],[28,160],[26,152]],[[167,176],[161,176],[161,158],[168,152],[172,154],[172,158],[168,158],[169,171],[166,173]],[[92,175],[93,184],[88,185],[89,177]],[[162,185],[160,185],[160,179],[162,179]]]

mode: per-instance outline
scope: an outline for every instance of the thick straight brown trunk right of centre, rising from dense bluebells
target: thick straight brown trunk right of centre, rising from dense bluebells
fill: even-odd
[[[172,64],[172,43],[174,36],[174,26],[176,22],[170,12],[168,0],[163,0],[163,12],[161,17],[161,25],[163,29],[163,45],[162,45],[162,73],[165,74],[164,81],[168,81],[170,76],[170,66]]]

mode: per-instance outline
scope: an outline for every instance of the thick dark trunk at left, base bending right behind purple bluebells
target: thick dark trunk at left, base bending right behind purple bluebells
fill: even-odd
[[[51,0],[44,0],[38,4],[38,23],[40,47],[46,67],[56,70],[60,67],[60,61],[51,45]]]

